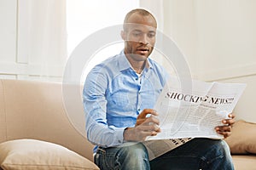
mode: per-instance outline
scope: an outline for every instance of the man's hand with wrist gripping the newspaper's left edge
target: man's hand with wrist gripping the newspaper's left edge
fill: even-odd
[[[150,114],[151,116],[147,115]],[[128,127],[124,132],[126,141],[143,141],[148,136],[160,133],[159,120],[155,117],[158,113],[152,109],[145,109],[137,116],[135,127]]]

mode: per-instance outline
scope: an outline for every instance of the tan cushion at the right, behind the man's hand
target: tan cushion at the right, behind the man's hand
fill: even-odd
[[[256,123],[237,121],[226,142],[230,145],[231,154],[256,154]]]

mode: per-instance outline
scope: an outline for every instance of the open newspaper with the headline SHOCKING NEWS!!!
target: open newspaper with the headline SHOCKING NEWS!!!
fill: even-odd
[[[215,127],[229,118],[245,88],[244,83],[170,79],[154,106],[161,132],[143,142],[149,160],[193,138],[223,139]]]

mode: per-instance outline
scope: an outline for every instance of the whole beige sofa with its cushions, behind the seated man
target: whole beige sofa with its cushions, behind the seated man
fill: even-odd
[[[69,110],[61,83],[0,81],[0,169],[99,169],[85,138],[81,98],[68,97],[77,101]],[[241,120],[226,139],[237,170],[256,169],[255,130]]]

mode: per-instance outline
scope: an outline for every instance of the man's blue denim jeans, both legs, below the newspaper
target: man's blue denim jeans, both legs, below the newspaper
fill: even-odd
[[[148,161],[148,152],[142,143],[99,148],[95,163],[101,170],[234,169],[229,146],[224,140],[215,139],[192,139],[152,161]]]

